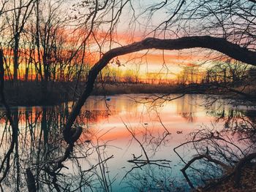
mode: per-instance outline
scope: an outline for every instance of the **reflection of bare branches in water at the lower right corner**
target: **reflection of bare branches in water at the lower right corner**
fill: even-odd
[[[241,172],[256,158],[255,123],[244,112],[232,109],[227,113],[213,113],[218,121],[224,121],[225,128],[195,131],[187,142],[175,147],[174,151],[184,163],[181,172],[191,188],[195,188],[195,178],[203,181],[206,188],[227,180],[233,180],[233,185],[240,187]],[[193,157],[186,159],[186,155],[181,155],[182,147],[185,151],[192,149]]]

